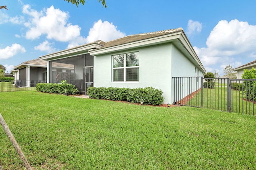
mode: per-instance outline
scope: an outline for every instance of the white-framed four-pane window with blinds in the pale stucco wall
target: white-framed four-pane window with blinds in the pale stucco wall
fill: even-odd
[[[113,82],[138,82],[138,53],[113,55]]]

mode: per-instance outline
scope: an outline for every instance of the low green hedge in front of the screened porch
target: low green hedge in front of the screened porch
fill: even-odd
[[[57,83],[38,83],[36,90],[44,93],[65,94],[65,88],[68,94],[79,94],[80,91],[72,84],[57,84]]]

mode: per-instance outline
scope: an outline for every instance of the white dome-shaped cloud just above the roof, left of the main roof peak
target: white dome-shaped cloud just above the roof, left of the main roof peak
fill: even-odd
[[[98,20],[94,23],[93,27],[90,28],[88,37],[86,37],[86,42],[90,43],[99,39],[106,42],[126,36],[125,33],[117,30],[116,28],[117,26],[115,26],[113,23]]]

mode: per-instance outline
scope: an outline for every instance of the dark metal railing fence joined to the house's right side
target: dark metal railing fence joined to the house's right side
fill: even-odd
[[[174,104],[254,115],[256,79],[173,77]]]

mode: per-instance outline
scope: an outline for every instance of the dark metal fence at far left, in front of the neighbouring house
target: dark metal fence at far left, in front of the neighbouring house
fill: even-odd
[[[0,80],[0,92],[36,90],[36,84],[46,80]]]

